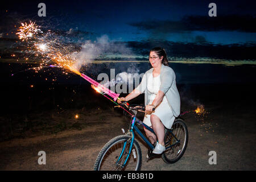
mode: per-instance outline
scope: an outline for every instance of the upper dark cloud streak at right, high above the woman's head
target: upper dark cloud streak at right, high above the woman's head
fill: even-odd
[[[181,33],[191,31],[240,31],[256,32],[253,15],[184,16],[179,21],[148,20],[129,23],[130,26],[154,33]]]

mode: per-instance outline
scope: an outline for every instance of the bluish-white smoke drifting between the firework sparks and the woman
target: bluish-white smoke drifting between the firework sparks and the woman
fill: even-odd
[[[108,35],[102,35],[94,42],[87,40],[84,44],[82,44],[80,51],[72,53],[73,59],[76,60],[75,65],[73,66],[77,70],[80,70],[84,65],[92,63],[92,61],[104,59],[113,60],[118,55],[120,57],[134,56],[133,51],[131,51],[131,49],[124,43],[112,41],[109,39]],[[97,68],[93,67],[93,69],[90,69],[90,72],[100,75],[102,71],[106,71],[106,68],[102,67],[102,65],[97,65]],[[97,69],[101,69],[100,72],[97,72]],[[110,69],[110,71],[112,70]],[[129,86],[130,90],[130,88],[134,85],[134,81],[135,86],[139,84],[139,68],[134,63],[131,63],[128,68],[123,67],[122,64],[120,64],[114,69],[114,72],[119,73],[117,73],[114,78],[104,78],[104,81],[101,82],[101,84],[103,84],[106,88],[115,88],[115,85],[119,84]],[[115,75],[115,73],[110,75]]]

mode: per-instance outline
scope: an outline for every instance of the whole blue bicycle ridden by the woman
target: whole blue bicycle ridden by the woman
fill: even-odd
[[[105,144],[105,146],[99,152],[94,164],[95,171],[138,171],[141,169],[141,147],[139,146],[137,140],[134,139],[134,131],[137,132],[137,134],[150,148],[150,150],[148,150],[147,160],[150,160],[155,156],[159,156],[159,154],[152,153],[155,146],[148,141],[147,137],[145,137],[142,134],[142,131],[137,127],[137,125],[142,125],[147,130],[154,133],[154,130],[152,130],[151,127],[148,127],[136,117],[138,111],[144,111],[145,107],[142,105],[129,106],[125,101],[123,101],[121,105],[126,106],[129,111],[133,112],[130,120],[129,130],[126,134],[119,135],[109,140],[109,142]],[[183,119],[177,117],[171,129],[165,129],[164,143],[166,150],[160,154],[162,155],[163,161],[167,164],[177,162],[181,156],[183,156],[188,143],[188,129]]]

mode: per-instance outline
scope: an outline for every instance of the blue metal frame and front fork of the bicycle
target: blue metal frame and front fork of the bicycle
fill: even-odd
[[[127,160],[129,159],[129,156],[131,154],[131,148],[133,147],[133,142],[134,142],[134,130],[139,134],[139,136],[144,140],[144,142],[147,143],[147,145],[151,148],[151,150],[154,150],[154,146],[151,144],[150,141],[148,141],[148,139],[142,134],[141,130],[138,129],[138,127],[135,125],[136,122],[140,123],[141,125],[143,125],[144,128],[146,128],[147,130],[151,131],[153,134],[155,134],[154,130],[151,129],[151,127],[147,126],[146,124],[144,124],[141,120],[139,120],[136,115],[133,115],[132,116],[133,120],[131,122],[131,127],[130,127],[130,133],[131,133],[131,144],[130,144],[130,148],[129,148],[129,153],[127,154],[126,156],[126,159],[125,159],[125,162],[123,163],[122,167],[125,166]],[[172,131],[168,130],[171,135],[176,139],[176,143],[172,144],[171,146],[169,147],[166,147],[166,149],[172,147],[172,146],[175,146],[177,143],[180,142],[180,140],[178,140],[175,135],[172,133]],[[123,148],[122,148],[122,151],[121,151],[121,154],[119,155],[119,158],[116,162],[116,164],[119,162],[119,160],[121,159],[121,156],[123,155],[123,151],[125,151],[125,148],[126,148],[126,143],[127,141],[123,144]],[[168,143],[168,142],[166,142]],[[165,144],[166,144],[165,143]]]

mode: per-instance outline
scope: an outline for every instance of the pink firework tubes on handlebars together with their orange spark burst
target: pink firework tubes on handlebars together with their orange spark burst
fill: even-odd
[[[42,63],[39,68],[36,68],[36,71],[43,68],[43,64],[48,63],[48,61],[51,60],[56,65],[50,65],[50,67],[60,67],[67,71],[76,73],[93,84],[93,88],[98,92],[108,94],[114,98],[114,101],[118,99],[119,94],[112,92],[112,90],[109,90],[104,85],[101,85],[92,78],[80,73],[77,60],[72,56],[72,53],[74,52],[72,46],[70,47],[61,42],[61,39],[55,34],[52,34],[51,31],[47,31],[47,33],[43,35],[43,32],[38,27],[39,26],[36,26],[36,24],[32,22],[30,24],[22,23],[22,27],[19,28],[19,32],[17,33],[22,41],[28,40],[31,37],[34,38],[30,41],[30,43],[34,43],[34,46],[32,46],[31,49],[33,48],[36,56],[42,56]],[[40,36],[38,35],[39,31],[42,33]],[[27,59],[28,58],[26,58],[26,60]]]

